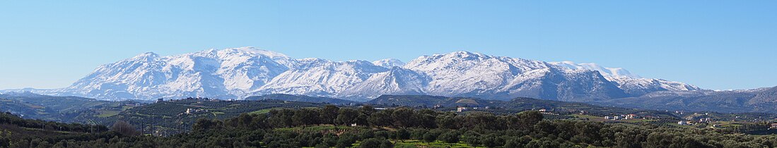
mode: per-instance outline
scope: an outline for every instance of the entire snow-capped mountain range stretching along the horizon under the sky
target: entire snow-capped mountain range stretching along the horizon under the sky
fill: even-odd
[[[173,56],[142,53],[97,67],[67,88],[32,91],[105,100],[237,98],[290,94],[366,101],[379,95],[441,95],[588,102],[653,91],[695,91],[690,84],[650,79],[622,68],[544,62],[482,53],[395,59],[330,61],[294,59],[253,47],[204,50]]]

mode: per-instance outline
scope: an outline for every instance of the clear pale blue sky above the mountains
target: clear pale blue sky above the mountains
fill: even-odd
[[[256,46],[408,61],[458,50],[594,62],[709,89],[777,86],[775,1],[0,2],[0,89],[62,88],[100,64]]]

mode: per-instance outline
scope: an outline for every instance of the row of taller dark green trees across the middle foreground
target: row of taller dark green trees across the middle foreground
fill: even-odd
[[[437,112],[430,109],[389,108],[376,110],[369,105],[361,108],[338,108],[326,105],[323,108],[277,109],[267,114],[242,114],[224,122],[200,119],[194,130],[209,129],[211,126],[226,124],[246,129],[272,129],[295,126],[335,125],[335,126],[390,126],[398,128],[424,129],[531,129],[542,120],[539,112],[521,112],[517,115],[493,115],[476,112],[458,115],[453,112]]]

